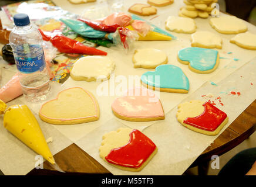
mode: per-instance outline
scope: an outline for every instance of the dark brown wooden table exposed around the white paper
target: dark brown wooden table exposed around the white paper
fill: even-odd
[[[206,150],[193,162],[191,167],[199,165],[199,174],[205,174],[206,163],[211,160],[212,155],[222,155],[231,150],[242,141],[246,140],[256,130],[256,100],[234,120],[230,126],[223,131],[218,138],[207,147]],[[45,162],[45,169],[33,169],[28,175],[89,175],[109,174],[106,168],[90,157],[85,151],[72,144],[54,155],[56,163],[66,173],[57,172],[48,162]]]

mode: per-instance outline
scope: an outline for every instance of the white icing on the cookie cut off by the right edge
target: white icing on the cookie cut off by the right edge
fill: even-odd
[[[244,46],[256,47],[256,34],[250,32],[237,34],[233,39],[237,43],[240,43]]]

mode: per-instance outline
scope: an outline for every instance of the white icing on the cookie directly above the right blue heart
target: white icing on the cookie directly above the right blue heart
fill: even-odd
[[[198,31],[191,35],[192,43],[200,43],[204,46],[221,46],[221,37],[208,31]]]

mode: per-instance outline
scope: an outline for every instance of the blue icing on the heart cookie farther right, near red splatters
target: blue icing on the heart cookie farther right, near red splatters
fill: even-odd
[[[216,64],[218,51],[200,47],[187,47],[178,51],[178,58],[189,61],[190,66],[196,70],[212,70]]]

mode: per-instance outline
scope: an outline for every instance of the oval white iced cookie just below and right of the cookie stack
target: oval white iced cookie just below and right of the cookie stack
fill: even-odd
[[[210,25],[223,34],[238,34],[247,31],[247,25],[241,19],[235,16],[221,16],[219,18],[211,18]]]

